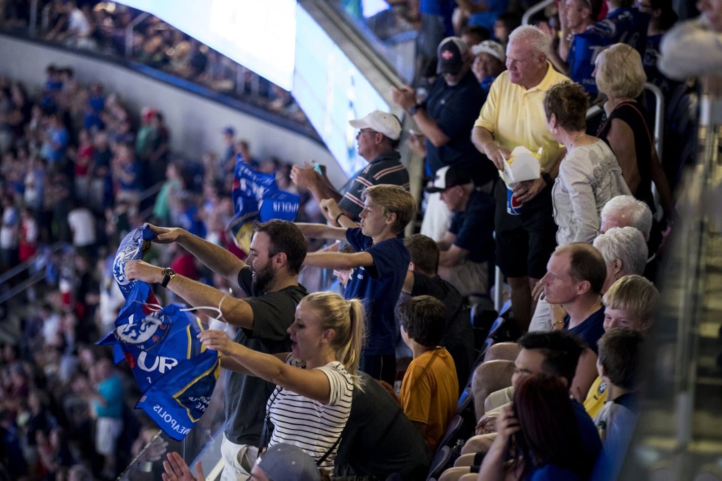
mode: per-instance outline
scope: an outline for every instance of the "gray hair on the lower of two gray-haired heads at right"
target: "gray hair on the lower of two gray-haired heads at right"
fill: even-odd
[[[604,257],[606,265],[615,259],[622,261],[620,276],[643,274],[647,265],[647,242],[638,228],[611,228],[594,239],[594,247]]]

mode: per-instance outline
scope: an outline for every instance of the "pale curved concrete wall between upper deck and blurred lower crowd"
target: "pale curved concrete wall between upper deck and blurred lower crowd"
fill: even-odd
[[[316,160],[325,164],[331,181],[341,186],[346,175],[326,147],[308,136],[240,112],[216,100],[161,82],[102,58],[0,35],[0,76],[22,81],[29,92],[40,91],[45,66],[71,66],[80,82],[100,81],[106,92],[117,92],[131,110],[153,105],[165,116],[173,152],[200,160],[203,152],[222,152],[221,131],[234,126],[251,143],[256,157],[275,155],[284,162]]]

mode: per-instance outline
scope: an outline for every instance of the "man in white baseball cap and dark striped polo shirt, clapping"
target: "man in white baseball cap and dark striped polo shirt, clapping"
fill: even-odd
[[[336,225],[342,225],[339,222],[359,220],[363,209],[363,189],[379,183],[391,183],[407,190],[409,188],[409,172],[396,151],[401,139],[399,118],[393,113],[374,110],[365,117],[349,121],[349,125],[359,129],[356,134],[358,152],[369,164],[359,170],[340,191],[336,191],[326,175],[318,173],[308,162],[304,162],[304,167],[294,165],[291,169],[293,183],[308,189],[319,204],[323,199],[339,203],[344,213],[341,217],[346,218],[329,219]],[[321,207],[324,213],[328,211],[325,204],[321,204]]]

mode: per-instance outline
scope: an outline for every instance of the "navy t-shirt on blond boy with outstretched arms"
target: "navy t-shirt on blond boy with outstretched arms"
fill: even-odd
[[[373,266],[354,269],[344,291],[344,298],[360,299],[366,311],[366,355],[389,355],[396,352],[396,323],[393,308],[404,286],[409,269],[409,251],[404,240],[396,237],[373,244],[360,228],[346,231],[349,244],[356,251],[373,257]]]

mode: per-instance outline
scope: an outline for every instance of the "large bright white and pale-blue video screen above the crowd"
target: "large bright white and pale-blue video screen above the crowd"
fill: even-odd
[[[349,126],[389,111],[362,72],[295,0],[123,0],[290,90],[346,175],[365,165]],[[378,1],[367,5],[378,11]],[[367,12],[365,12],[367,13]]]

